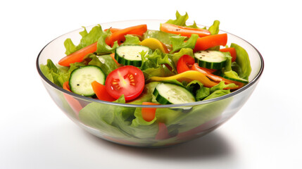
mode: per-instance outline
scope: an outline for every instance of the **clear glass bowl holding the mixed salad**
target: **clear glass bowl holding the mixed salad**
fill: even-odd
[[[165,20],[127,20],[100,24],[109,27],[130,27],[147,24],[148,29],[158,30]],[[94,25],[86,27],[89,31]],[[201,26],[202,27],[202,26]],[[201,137],[215,130],[239,111],[256,88],[263,73],[263,58],[259,51],[244,39],[227,33],[228,43],[236,43],[248,52],[251,61],[249,83],[235,92],[206,101],[172,105],[134,105],[118,104],[80,96],[66,91],[49,81],[40,70],[48,58],[54,63],[65,56],[63,42],[71,38],[75,44],[80,42],[82,29],[74,30],[46,44],[37,57],[37,70],[44,87],[59,108],[74,123],[101,139],[127,146],[159,147],[171,146]],[[132,123],[134,113],[141,108],[156,108],[156,120],[152,124]],[[139,120],[139,119],[137,119]]]

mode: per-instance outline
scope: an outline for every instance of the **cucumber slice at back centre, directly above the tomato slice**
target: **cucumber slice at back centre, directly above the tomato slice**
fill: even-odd
[[[137,45],[121,45],[115,49],[115,60],[122,65],[141,66],[141,51],[149,54],[151,49],[147,46]]]

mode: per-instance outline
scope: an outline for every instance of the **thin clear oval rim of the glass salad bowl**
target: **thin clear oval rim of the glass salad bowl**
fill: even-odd
[[[120,22],[148,22],[148,21],[158,21],[158,22],[166,22],[167,20],[121,20],[121,21],[115,21],[115,22],[110,22],[110,23],[120,23]],[[103,25],[103,24],[109,24],[109,23],[101,23],[99,25]],[[90,25],[88,27],[92,27],[94,25]],[[203,25],[199,25],[199,26],[203,26]],[[77,29],[77,30],[81,30],[80,29]],[[77,30],[73,30],[73,31],[70,31],[70,32],[74,32],[74,31],[77,31]],[[223,32],[226,32],[224,30],[221,30]],[[64,36],[64,35],[67,35],[69,34],[70,32],[67,32],[59,37],[56,37],[55,39],[51,40],[51,42],[54,42],[56,39]],[[63,89],[62,87],[58,87],[56,84],[54,84],[53,82],[51,82],[50,80],[47,79],[47,77],[45,77],[42,73],[42,71],[40,70],[39,68],[39,57],[41,56],[42,54],[42,51],[46,48],[46,46],[48,46],[49,44],[51,44],[51,42],[49,42],[48,44],[46,44],[42,50],[39,52],[38,56],[37,56],[37,60],[36,60],[36,67],[37,67],[37,71],[40,75],[40,77],[42,77],[42,80],[44,80],[47,84],[51,85],[51,87],[54,87],[55,89],[58,89],[60,92],[63,92],[65,94],[69,94],[77,99],[82,99],[82,100],[86,100],[86,101],[89,101],[89,102],[98,102],[100,104],[108,104],[108,105],[113,105],[113,106],[123,106],[123,107],[139,107],[139,108],[177,108],[177,107],[188,107],[188,106],[198,106],[198,105],[201,105],[201,104],[210,104],[210,103],[213,103],[215,101],[220,101],[220,100],[223,100],[223,99],[227,99],[231,96],[235,96],[241,92],[244,92],[246,89],[248,89],[249,87],[253,86],[253,84],[255,84],[256,82],[258,82],[258,80],[260,79],[262,73],[263,73],[263,69],[264,69],[264,61],[263,61],[263,57],[262,55],[260,54],[260,52],[258,51],[258,49],[256,49],[255,46],[253,46],[252,44],[250,44],[249,42],[247,42],[245,39],[242,39],[241,37],[238,37],[237,35],[233,35],[232,33],[229,33],[229,32],[226,32],[227,34],[229,35],[232,35],[234,37],[237,37],[241,40],[243,40],[244,42],[246,42],[247,44],[249,44],[250,46],[253,47],[253,49],[256,50],[259,58],[260,58],[260,70],[259,72],[257,73],[256,77],[253,78],[253,80],[251,80],[251,82],[248,82],[248,84],[246,84],[244,87],[241,87],[240,89],[237,89],[236,91],[234,92],[231,92],[230,94],[226,94],[224,96],[220,96],[220,97],[217,97],[217,98],[214,98],[214,99],[208,99],[206,101],[195,101],[195,102],[191,102],[191,103],[187,103],[187,104],[165,104],[165,105],[140,105],[140,104],[120,104],[120,103],[115,103],[115,102],[110,102],[110,101],[101,101],[99,99],[92,99],[92,98],[89,98],[89,97],[86,97],[86,96],[81,96],[79,94],[74,94],[73,92],[68,92],[67,90]]]

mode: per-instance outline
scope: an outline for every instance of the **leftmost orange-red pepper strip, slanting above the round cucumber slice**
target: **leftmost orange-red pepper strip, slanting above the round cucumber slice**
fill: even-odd
[[[69,66],[70,63],[82,62],[83,58],[87,54],[92,54],[96,51],[96,46],[97,46],[97,42],[94,42],[93,44],[90,44],[89,46],[86,46],[78,51],[73,52],[73,54],[65,56],[60,61],[58,61],[58,64],[63,65],[63,66]]]

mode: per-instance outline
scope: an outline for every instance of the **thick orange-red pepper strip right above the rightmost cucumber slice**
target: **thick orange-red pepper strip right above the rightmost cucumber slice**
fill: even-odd
[[[199,37],[197,39],[194,51],[205,51],[214,46],[227,45],[227,34],[210,35],[207,37]]]

